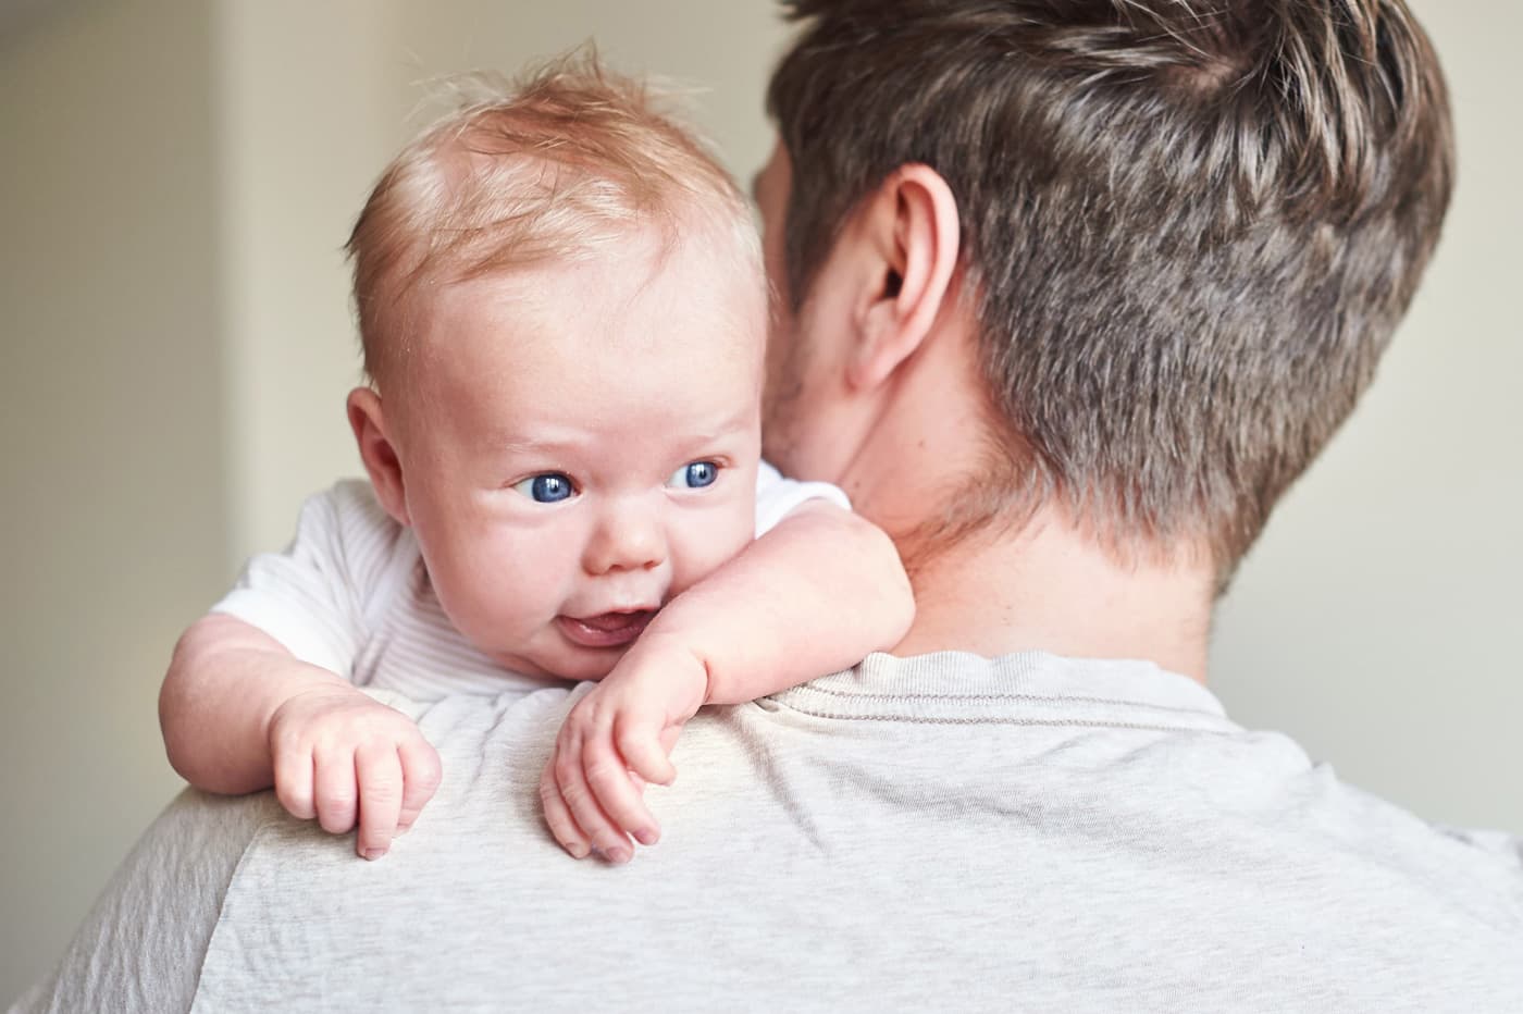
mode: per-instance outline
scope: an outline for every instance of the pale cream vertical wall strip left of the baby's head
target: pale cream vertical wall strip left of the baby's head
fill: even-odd
[[[212,6],[233,574],[291,537],[306,493],[359,474],[343,245],[396,148],[384,96],[399,47],[375,0]]]

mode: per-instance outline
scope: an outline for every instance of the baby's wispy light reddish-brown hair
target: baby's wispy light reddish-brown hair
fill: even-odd
[[[346,250],[366,375],[378,387],[414,341],[429,286],[597,256],[655,228],[704,236],[762,285],[749,206],[705,143],[644,82],[576,50],[518,81],[445,82],[454,110],[370,192]]]

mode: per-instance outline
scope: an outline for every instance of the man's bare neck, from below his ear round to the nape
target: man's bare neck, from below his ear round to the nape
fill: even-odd
[[[988,443],[976,438],[987,417],[970,362],[956,343],[923,350],[902,387],[859,423],[838,477],[857,512],[911,562],[917,618],[896,653],[1147,659],[1203,682],[1214,588],[1203,556],[1121,560],[1055,504],[1019,530],[988,527],[952,544],[917,539],[934,505],[967,490],[969,477],[999,481]]]

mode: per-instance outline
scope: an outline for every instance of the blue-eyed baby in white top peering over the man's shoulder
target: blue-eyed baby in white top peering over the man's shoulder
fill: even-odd
[[[468,97],[387,167],[349,253],[370,483],[309,499],[291,547],[181,636],[160,719],[192,784],[274,786],[375,859],[440,769],[359,687],[602,681],[541,798],[573,856],[624,862],[659,834],[641,789],[672,781],[699,706],[908,629],[889,539],[758,460],[755,228],[638,85],[582,59]]]

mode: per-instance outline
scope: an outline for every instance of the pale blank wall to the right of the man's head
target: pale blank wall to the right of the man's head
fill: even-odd
[[[1459,186],[1349,425],[1220,614],[1214,688],[1433,821],[1523,831],[1523,8],[1412,0],[1448,73]]]

